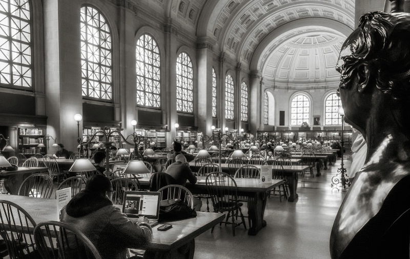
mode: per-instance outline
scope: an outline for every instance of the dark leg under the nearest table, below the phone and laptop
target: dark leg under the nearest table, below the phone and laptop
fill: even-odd
[[[144,259],[193,259],[195,253],[195,240],[191,240],[185,245],[171,251],[158,251],[147,249],[144,253]]]

